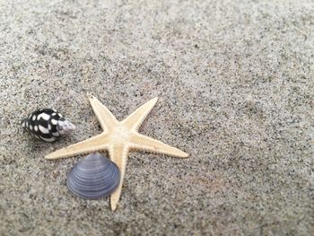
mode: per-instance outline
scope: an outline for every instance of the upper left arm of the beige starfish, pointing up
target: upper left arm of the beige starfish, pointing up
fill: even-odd
[[[98,99],[92,96],[90,102],[96,117],[100,121],[100,126],[104,131],[108,131],[109,127],[114,127],[118,124],[117,118],[115,118],[111,111],[102,105]]]

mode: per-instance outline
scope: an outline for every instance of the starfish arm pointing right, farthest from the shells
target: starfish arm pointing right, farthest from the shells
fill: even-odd
[[[137,150],[144,150],[152,153],[163,153],[174,157],[188,157],[188,153],[184,153],[178,148],[172,147],[168,144],[163,144],[161,141],[138,133],[131,136],[130,143],[131,148]]]

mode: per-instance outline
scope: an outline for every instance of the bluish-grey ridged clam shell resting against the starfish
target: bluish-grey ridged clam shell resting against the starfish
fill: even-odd
[[[120,181],[118,166],[100,153],[76,163],[67,175],[67,188],[76,196],[97,199],[109,196]]]

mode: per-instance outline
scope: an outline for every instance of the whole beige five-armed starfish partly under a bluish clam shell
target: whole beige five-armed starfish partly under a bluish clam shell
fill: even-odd
[[[52,160],[58,158],[72,157],[83,153],[96,151],[108,151],[112,162],[115,162],[120,170],[120,183],[115,192],[111,194],[111,209],[114,211],[118,205],[121,188],[126,171],[127,153],[133,150],[144,150],[153,153],[164,153],[175,157],[188,157],[179,149],[163,144],[153,138],[139,134],[137,131],[142,125],[144,118],[153,109],[158,98],[147,101],[136,109],[129,117],[119,122],[104,105],[95,97],[90,99],[92,109],[100,121],[103,132],[83,142],[69,145],[45,158]]]

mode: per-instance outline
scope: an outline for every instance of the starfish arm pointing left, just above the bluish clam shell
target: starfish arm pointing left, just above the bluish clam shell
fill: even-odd
[[[72,144],[65,148],[59,149],[54,153],[50,153],[45,156],[45,159],[53,160],[65,157],[72,157],[78,154],[93,153],[100,150],[106,150],[109,146],[109,144],[106,144],[107,142],[108,135],[100,134],[77,144]]]

